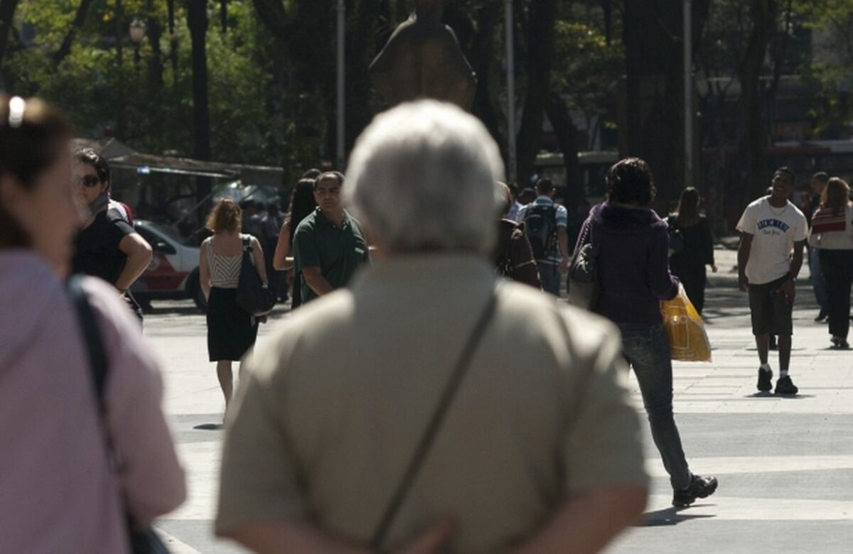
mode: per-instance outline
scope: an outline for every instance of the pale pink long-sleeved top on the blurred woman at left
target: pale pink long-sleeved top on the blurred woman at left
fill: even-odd
[[[40,257],[0,250],[0,537],[9,552],[128,551],[121,498],[138,522],[186,489],[160,408],[162,382],[119,295],[84,281],[110,369],[107,461],[77,313]]]

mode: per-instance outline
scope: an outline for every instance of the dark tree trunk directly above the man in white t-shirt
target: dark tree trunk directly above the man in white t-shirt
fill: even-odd
[[[763,119],[761,71],[770,40],[769,28],[773,25],[772,2],[773,0],[751,0],[752,29],[738,68],[741,89],[740,118],[743,125],[740,133],[740,166],[744,169],[742,173],[745,176],[741,187],[742,205],[761,196],[769,186],[764,171],[767,130]]]

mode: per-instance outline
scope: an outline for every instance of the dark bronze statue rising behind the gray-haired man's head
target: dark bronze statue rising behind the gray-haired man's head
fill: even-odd
[[[370,64],[370,78],[392,106],[435,98],[471,108],[477,78],[456,34],[441,22],[442,0],[417,0],[409,16]]]

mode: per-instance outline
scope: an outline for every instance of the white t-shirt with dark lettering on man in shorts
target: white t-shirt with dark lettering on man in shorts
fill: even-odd
[[[752,235],[746,277],[751,285],[780,279],[791,270],[795,242],[805,240],[807,223],[802,211],[788,202],[784,208],[770,205],[769,196],[746,206],[738,230]]]

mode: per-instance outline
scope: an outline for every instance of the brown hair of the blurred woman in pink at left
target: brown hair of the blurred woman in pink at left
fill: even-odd
[[[63,153],[63,140],[70,138],[65,119],[46,102],[0,95],[0,178],[12,176],[32,190],[38,176]],[[30,238],[0,199],[0,248],[29,245]]]

